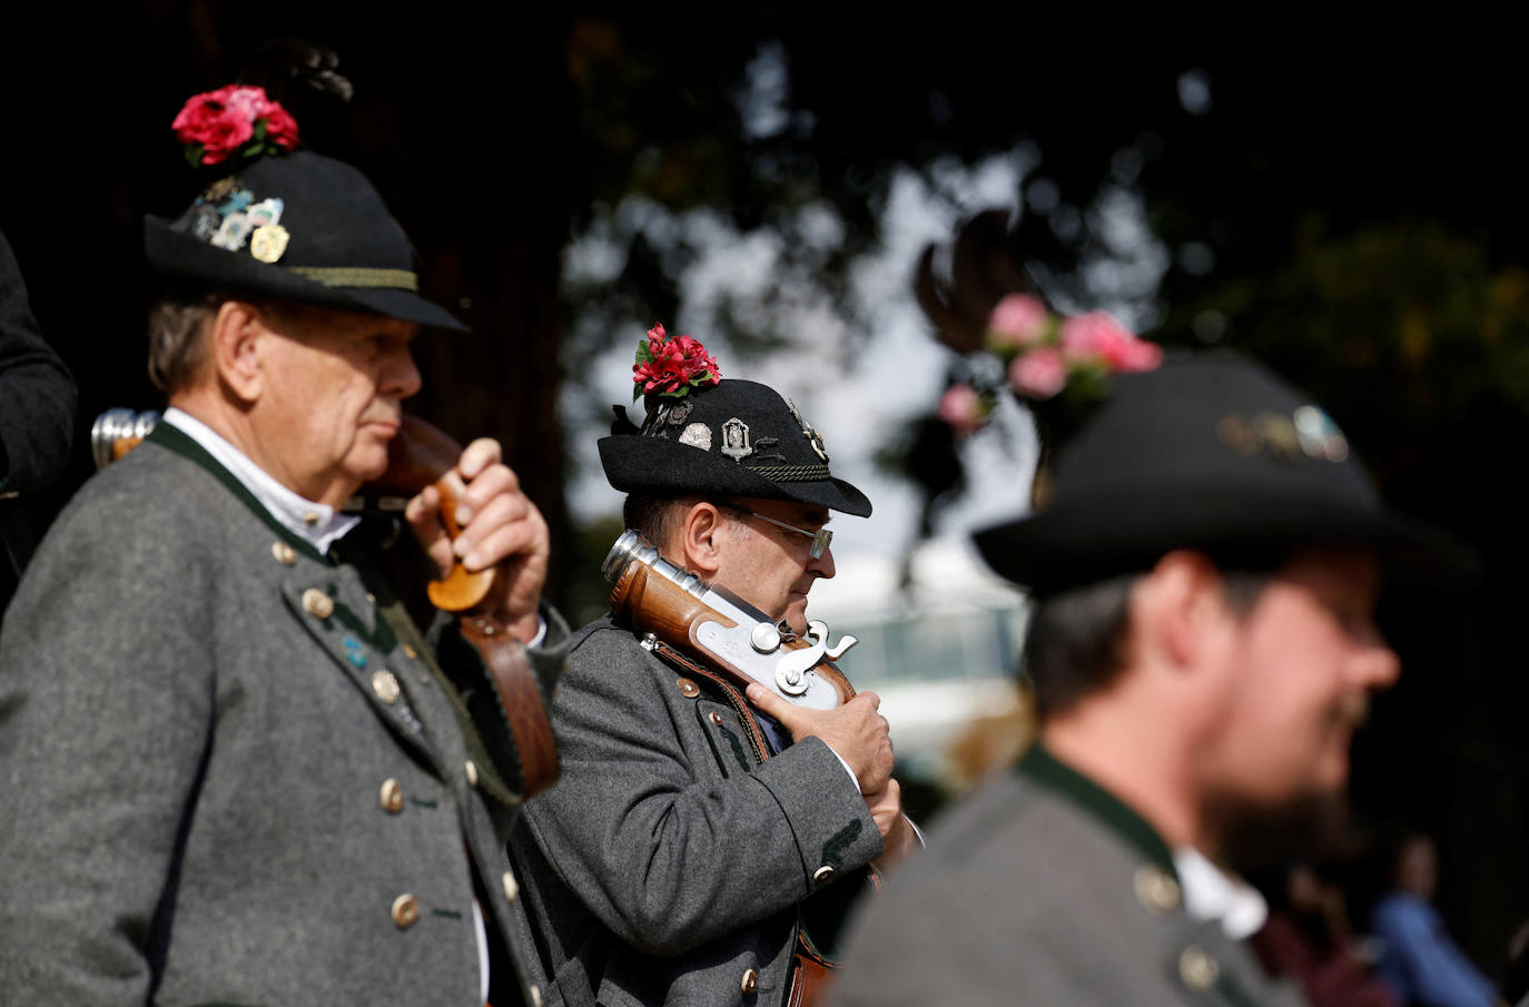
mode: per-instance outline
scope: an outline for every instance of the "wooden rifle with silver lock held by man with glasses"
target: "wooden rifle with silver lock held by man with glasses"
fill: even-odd
[[[723,587],[714,587],[659,556],[627,529],[602,567],[610,610],[644,633],[644,646],[659,642],[737,680],[758,682],[810,709],[833,709],[855,698],[855,686],[833,660],[859,640],[844,634],[829,646],[829,627],[807,623],[807,636],[783,631],[769,616]]]

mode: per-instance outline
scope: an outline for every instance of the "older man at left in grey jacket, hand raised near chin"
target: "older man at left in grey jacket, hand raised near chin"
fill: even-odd
[[[147,246],[171,408],[58,518],[0,639],[0,1002],[535,1004],[505,700],[341,512],[388,466],[414,333],[460,325],[365,177],[307,151],[231,160]],[[446,478],[460,535],[436,489],[413,530],[500,570],[479,628],[550,694],[546,526],[494,442]]]

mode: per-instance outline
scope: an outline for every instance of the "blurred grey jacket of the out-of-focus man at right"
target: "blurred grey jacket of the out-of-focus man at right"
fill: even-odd
[[[1183,908],[1168,847],[1040,746],[852,920],[833,1007],[1300,1007]]]

